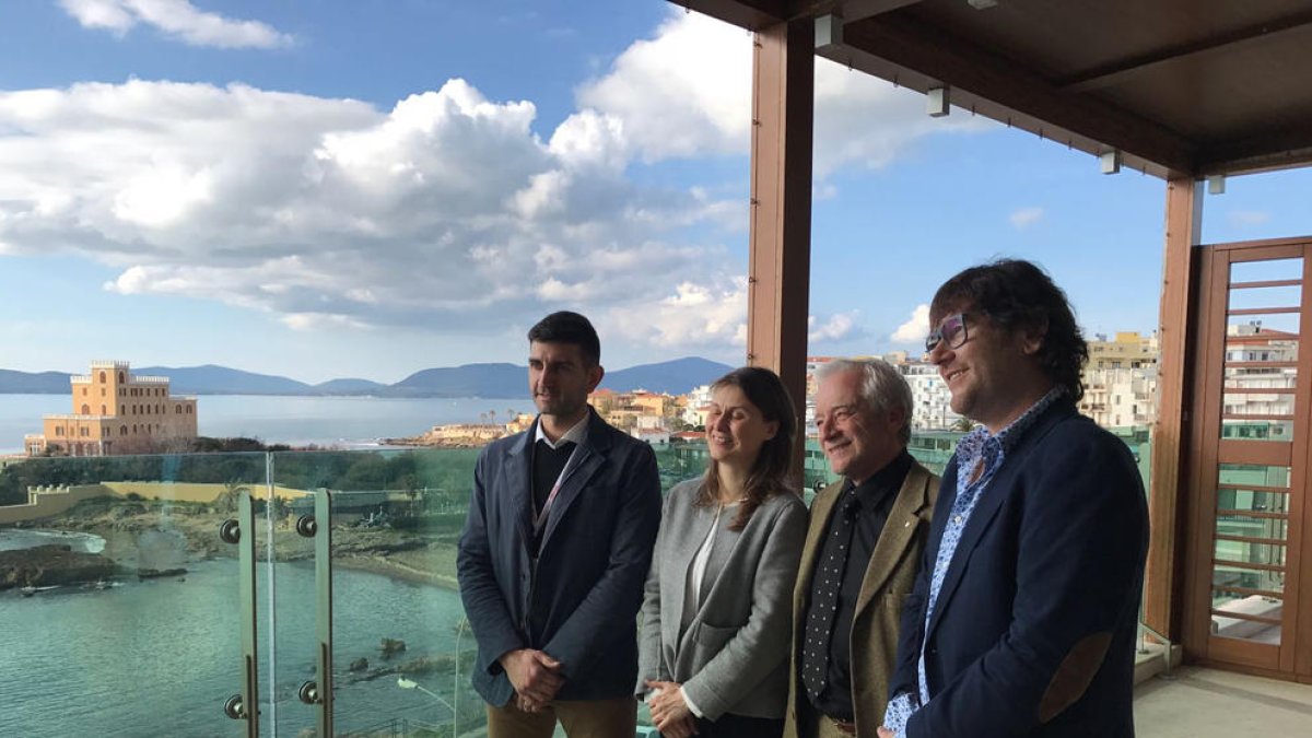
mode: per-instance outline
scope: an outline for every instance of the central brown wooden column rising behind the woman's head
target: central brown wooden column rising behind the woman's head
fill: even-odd
[[[758,32],[752,70],[747,362],[783,378],[800,423],[811,280],[813,21]]]

